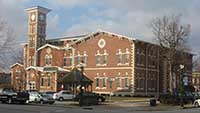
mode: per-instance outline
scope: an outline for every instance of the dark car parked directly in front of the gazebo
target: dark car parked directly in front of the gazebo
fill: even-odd
[[[81,102],[82,98],[82,102]],[[79,103],[83,105],[93,105],[98,104],[99,102],[104,102],[105,97],[98,95],[96,93],[86,92],[86,93],[79,93],[75,96],[74,101],[78,101]]]

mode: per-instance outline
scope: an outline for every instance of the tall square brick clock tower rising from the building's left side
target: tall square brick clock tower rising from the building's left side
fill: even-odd
[[[37,66],[36,51],[45,44],[47,8],[36,6],[26,9],[28,13],[28,66]]]

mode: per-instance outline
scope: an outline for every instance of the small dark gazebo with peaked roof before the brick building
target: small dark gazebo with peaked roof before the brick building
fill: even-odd
[[[91,92],[92,91],[92,83],[93,81],[90,80],[82,70],[78,68],[72,69],[69,73],[64,75],[63,79],[61,80],[63,84],[70,84],[72,85],[72,90],[74,94],[78,93],[78,89],[80,87],[84,87],[84,91]]]

